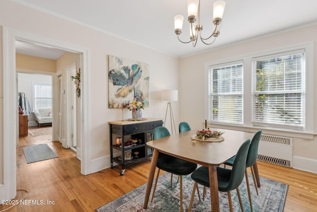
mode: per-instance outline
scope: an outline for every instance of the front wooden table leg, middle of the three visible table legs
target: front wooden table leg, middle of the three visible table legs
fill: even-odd
[[[209,187],[211,196],[211,211],[219,212],[219,192],[218,192],[218,177],[217,177],[217,166],[209,165]]]

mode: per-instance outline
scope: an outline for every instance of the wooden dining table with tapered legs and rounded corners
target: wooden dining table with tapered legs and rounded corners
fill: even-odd
[[[148,177],[148,184],[143,207],[144,209],[147,209],[148,207],[159,152],[163,152],[165,154],[169,154],[174,157],[178,157],[208,167],[210,180],[209,182],[211,194],[211,209],[212,212],[220,211],[217,166],[222,164],[232,156],[234,156],[237,153],[241,144],[247,139],[252,140],[254,134],[225,129],[211,130],[224,132],[222,134],[224,141],[207,142],[195,140],[196,142],[193,142],[191,137],[196,135],[197,130],[191,130],[147,142],[147,145],[152,147],[154,149],[154,152]],[[261,184],[259,180],[257,164],[255,164],[254,168],[256,169],[256,178],[259,182],[258,186],[260,187]]]

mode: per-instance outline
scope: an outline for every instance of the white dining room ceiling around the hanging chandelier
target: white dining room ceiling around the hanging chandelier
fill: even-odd
[[[185,57],[224,45],[317,21],[317,0],[225,0],[220,36],[214,44],[182,44],[174,16],[184,16],[182,40],[189,40],[186,0],[14,0],[70,21],[158,50]],[[201,0],[203,37],[211,33],[212,4]]]

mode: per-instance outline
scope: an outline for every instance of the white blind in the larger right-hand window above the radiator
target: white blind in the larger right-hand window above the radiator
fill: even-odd
[[[304,50],[255,60],[253,79],[253,124],[304,129]]]

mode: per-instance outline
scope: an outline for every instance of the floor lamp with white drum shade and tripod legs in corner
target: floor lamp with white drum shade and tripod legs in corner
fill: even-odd
[[[167,107],[166,107],[166,113],[165,113],[165,119],[164,119],[164,127],[166,123],[166,116],[167,116],[167,111],[169,109],[169,117],[170,117],[170,126],[172,129],[172,135],[173,135],[173,126],[174,126],[174,131],[176,134],[176,128],[175,128],[175,122],[174,122],[174,115],[173,115],[173,110],[172,110],[172,103],[171,101],[177,101],[178,100],[178,90],[162,90],[161,91],[161,100],[162,101],[167,101]]]

